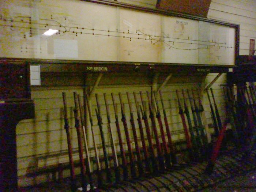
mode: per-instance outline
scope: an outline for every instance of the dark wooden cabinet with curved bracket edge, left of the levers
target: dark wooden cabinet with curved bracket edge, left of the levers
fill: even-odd
[[[0,191],[18,190],[16,125],[19,121],[35,117],[31,100],[0,103]]]

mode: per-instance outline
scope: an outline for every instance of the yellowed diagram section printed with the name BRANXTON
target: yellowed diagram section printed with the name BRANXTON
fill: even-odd
[[[198,63],[198,21],[164,17],[164,62]]]

